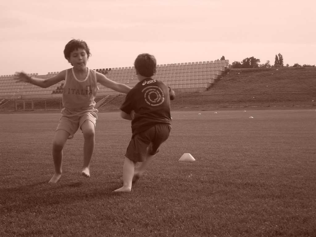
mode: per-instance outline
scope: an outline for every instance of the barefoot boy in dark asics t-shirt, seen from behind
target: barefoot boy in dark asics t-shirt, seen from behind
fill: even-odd
[[[132,138],[125,154],[123,187],[117,192],[131,191],[132,182],[142,176],[171,131],[170,100],[175,94],[165,83],[151,78],[156,73],[155,57],[140,54],[134,65],[139,82],[120,108],[122,118],[132,120]],[[137,162],[142,163],[134,172]]]

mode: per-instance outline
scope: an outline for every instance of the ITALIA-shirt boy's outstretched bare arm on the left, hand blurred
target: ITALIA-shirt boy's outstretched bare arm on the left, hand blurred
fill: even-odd
[[[58,82],[61,82],[62,80],[65,80],[66,71],[65,70],[61,71],[56,76],[52,76],[47,79],[38,78],[35,76],[27,76],[27,74],[24,72],[16,72],[16,74],[17,74],[16,82],[28,82],[42,88],[47,88],[47,87],[57,84]]]

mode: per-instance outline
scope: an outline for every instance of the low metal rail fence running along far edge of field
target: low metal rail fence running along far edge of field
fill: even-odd
[[[251,94],[195,94],[177,95],[171,101],[172,108],[207,108],[207,107],[269,107],[269,106],[314,106],[316,92],[292,93],[251,93]],[[106,99],[98,108],[102,110],[117,110],[125,96],[107,99],[98,97],[96,102]],[[15,100],[7,101],[0,106],[0,111],[31,111],[31,110],[61,110],[62,100]]]

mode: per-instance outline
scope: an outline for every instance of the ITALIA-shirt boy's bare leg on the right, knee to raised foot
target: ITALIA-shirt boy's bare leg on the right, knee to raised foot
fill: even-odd
[[[90,161],[94,151],[94,124],[90,120],[86,120],[81,125],[83,132],[84,144],[83,144],[83,166],[81,174],[84,177],[90,177]]]

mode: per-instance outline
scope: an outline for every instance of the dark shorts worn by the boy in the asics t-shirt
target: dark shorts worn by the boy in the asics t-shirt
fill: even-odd
[[[156,124],[146,131],[134,135],[127,147],[125,157],[134,162],[146,161],[147,149],[149,155],[158,153],[160,145],[166,141],[171,131],[169,124]]]

